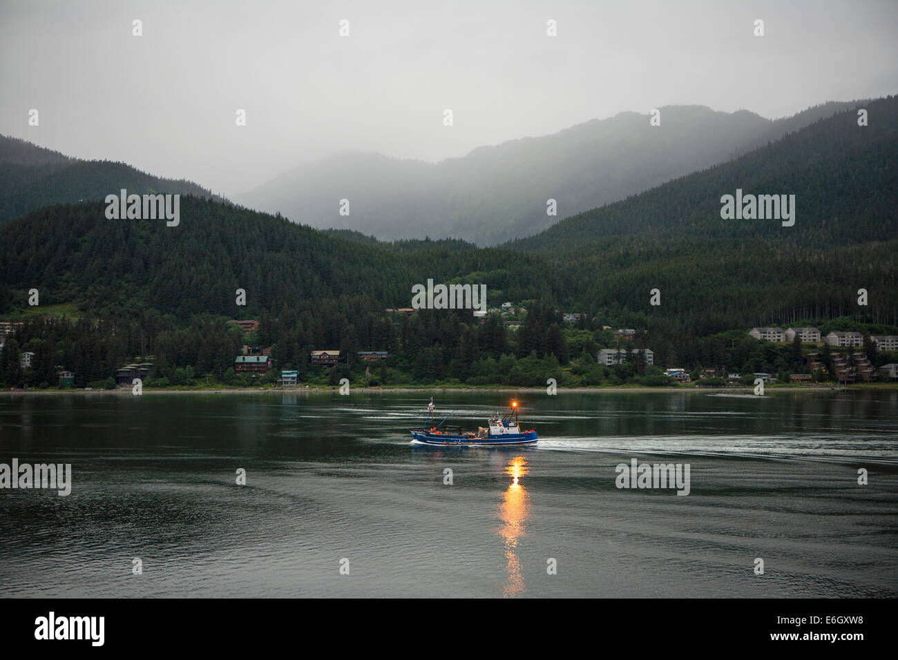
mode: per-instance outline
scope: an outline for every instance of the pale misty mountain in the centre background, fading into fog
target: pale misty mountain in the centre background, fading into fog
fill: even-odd
[[[665,106],[659,127],[649,126],[647,114],[623,112],[436,164],[342,154],[233,199],[295,222],[379,239],[429,235],[492,244],[723,163],[848,105],[828,103],[776,121],[745,110]],[[343,198],[349,216],[339,215]],[[549,198],[557,200],[557,216],[546,215]]]

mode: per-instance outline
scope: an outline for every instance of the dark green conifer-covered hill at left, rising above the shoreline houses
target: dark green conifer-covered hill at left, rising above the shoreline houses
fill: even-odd
[[[436,242],[400,257],[395,248],[333,238],[284,218],[214,200],[181,198],[180,224],[110,220],[98,202],[41,208],[0,228],[0,313],[74,302],[92,312],[154,309],[182,320],[277,313],[285,306],[368,295],[409,306],[411,286],[469,277],[515,299],[553,299],[524,277],[535,257]],[[400,246],[401,247],[401,246]],[[235,304],[236,290],[246,305]]]

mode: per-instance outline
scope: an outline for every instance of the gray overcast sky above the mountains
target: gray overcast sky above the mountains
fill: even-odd
[[[896,34],[896,0],[0,0],[0,133],[227,195],[351,149],[434,162],[623,110],[884,96]]]

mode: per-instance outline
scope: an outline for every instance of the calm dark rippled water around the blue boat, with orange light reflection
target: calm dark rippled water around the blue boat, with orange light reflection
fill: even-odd
[[[522,392],[517,449],[409,444],[429,397],[0,395],[0,462],[74,481],[0,489],[0,596],[898,595],[898,392]]]

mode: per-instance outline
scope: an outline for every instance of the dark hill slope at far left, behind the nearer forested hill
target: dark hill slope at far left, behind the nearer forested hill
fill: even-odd
[[[209,190],[191,181],[161,179],[125,163],[69,158],[0,136],[0,223],[50,204],[103,199],[122,188],[138,195],[165,192],[212,197]]]

